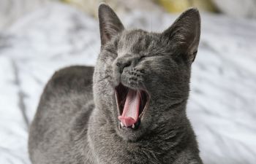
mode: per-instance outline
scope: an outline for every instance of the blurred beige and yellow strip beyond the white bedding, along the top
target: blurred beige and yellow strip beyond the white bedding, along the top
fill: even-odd
[[[77,7],[89,15],[97,15],[97,7],[103,0],[1,0],[0,28],[10,26],[23,15],[42,7],[49,2],[63,2]],[[162,11],[178,13],[188,7],[214,13],[223,13],[232,17],[256,17],[255,0],[105,0],[117,12],[127,13],[131,9],[160,9]]]

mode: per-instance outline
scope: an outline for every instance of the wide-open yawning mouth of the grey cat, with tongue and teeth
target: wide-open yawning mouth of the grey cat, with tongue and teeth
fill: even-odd
[[[115,88],[115,95],[121,128],[135,129],[148,107],[148,93],[145,90],[133,90],[120,83]]]

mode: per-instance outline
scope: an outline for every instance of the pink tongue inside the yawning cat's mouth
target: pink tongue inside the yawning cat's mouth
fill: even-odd
[[[129,127],[138,121],[140,109],[140,93],[139,91],[129,90],[127,99],[124,104],[123,114],[118,116],[124,126]]]

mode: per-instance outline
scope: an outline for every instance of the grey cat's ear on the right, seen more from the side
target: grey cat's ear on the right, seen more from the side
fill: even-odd
[[[197,9],[192,8],[183,12],[181,16],[162,33],[162,36],[178,52],[186,55],[189,62],[195,60],[197,47],[200,40],[200,14]]]

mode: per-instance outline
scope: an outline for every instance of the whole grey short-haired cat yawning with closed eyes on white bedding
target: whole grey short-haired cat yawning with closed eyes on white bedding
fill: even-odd
[[[99,5],[94,68],[57,71],[29,133],[33,164],[202,163],[187,119],[200,15],[188,9],[162,33],[127,31]]]

